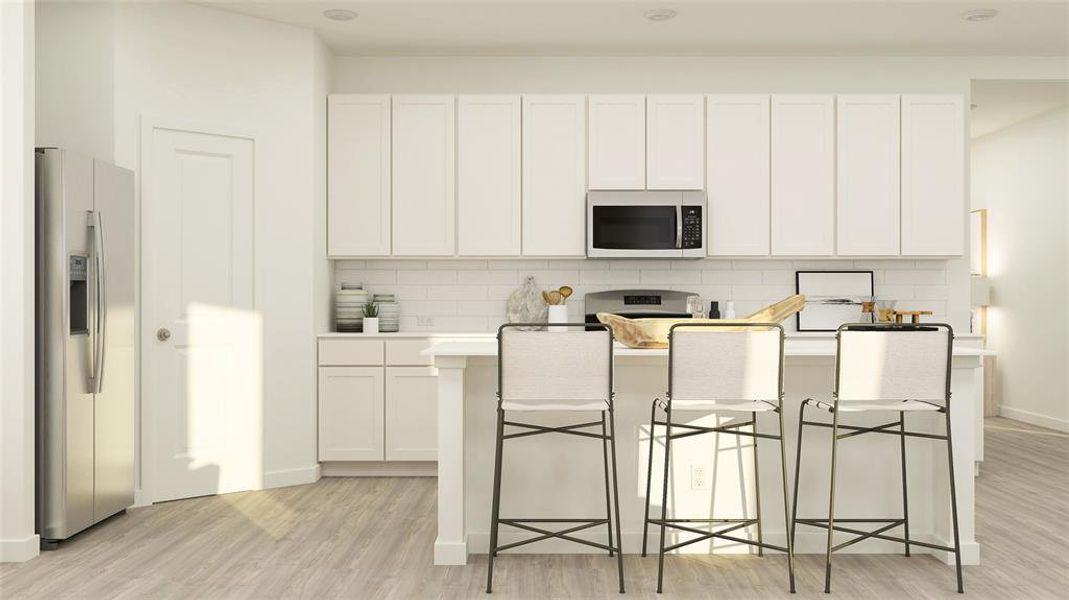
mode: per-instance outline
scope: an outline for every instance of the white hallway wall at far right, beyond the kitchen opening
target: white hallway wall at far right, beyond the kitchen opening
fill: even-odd
[[[988,210],[988,347],[1001,413],[1069,431],[1069,108],[983,136],[972,203]]]

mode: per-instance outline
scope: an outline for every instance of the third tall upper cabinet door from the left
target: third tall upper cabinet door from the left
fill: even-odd
[[[461,96],[456,132],[461,256],[520,253],[520,96]]]

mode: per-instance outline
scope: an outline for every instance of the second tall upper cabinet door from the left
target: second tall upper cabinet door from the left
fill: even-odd
[[[456,251],[453,96],[393,96],[393,255]]]

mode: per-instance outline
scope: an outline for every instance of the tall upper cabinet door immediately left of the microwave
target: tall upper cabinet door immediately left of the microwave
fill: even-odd
[[[586,98],[524,96],[523,253],[586,255]]]

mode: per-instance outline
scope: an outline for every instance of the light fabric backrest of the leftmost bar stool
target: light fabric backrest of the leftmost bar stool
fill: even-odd
[[[526,403],[606,400],[613,396],[613,333],[583,323],[568,330],[524,330],[502,325],[497,332],[498,395]],[[597,330],[585,330],[586,327]]]

